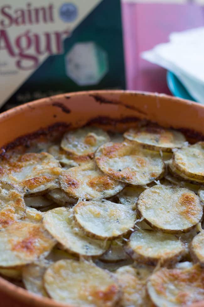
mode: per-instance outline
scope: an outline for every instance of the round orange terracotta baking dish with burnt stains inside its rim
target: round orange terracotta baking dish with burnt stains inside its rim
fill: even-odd
[[[124,130],[138,119],[180,129],[188,139],[204,139],[204,106],[164,94],[128,91],[89,91],[61,94],[36,100],[0,114],[0,147],[48,126],[76,128],[94,124],[104,129]],[[18,144],[23,138],[18,139]],[[0,277],[3,307],[60,307]],[[204,307],[204,301],[192,305]]]

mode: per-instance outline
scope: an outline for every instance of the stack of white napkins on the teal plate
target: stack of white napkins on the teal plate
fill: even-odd
[[[172,71],[204,104],[204,27],[171,33],[169,40],[142,52],[142,58]]]

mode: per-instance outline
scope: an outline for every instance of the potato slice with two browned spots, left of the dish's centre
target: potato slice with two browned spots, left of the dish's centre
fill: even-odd
[[[102,173],[94,161],[62,172],[60,185],[68,195],[79,199],[109,198],[125,186]]]

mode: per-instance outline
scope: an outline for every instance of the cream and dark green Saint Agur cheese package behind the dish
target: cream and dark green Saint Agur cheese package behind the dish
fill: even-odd
[[[125,88],[120,0],[0,0],[0,106]]]

